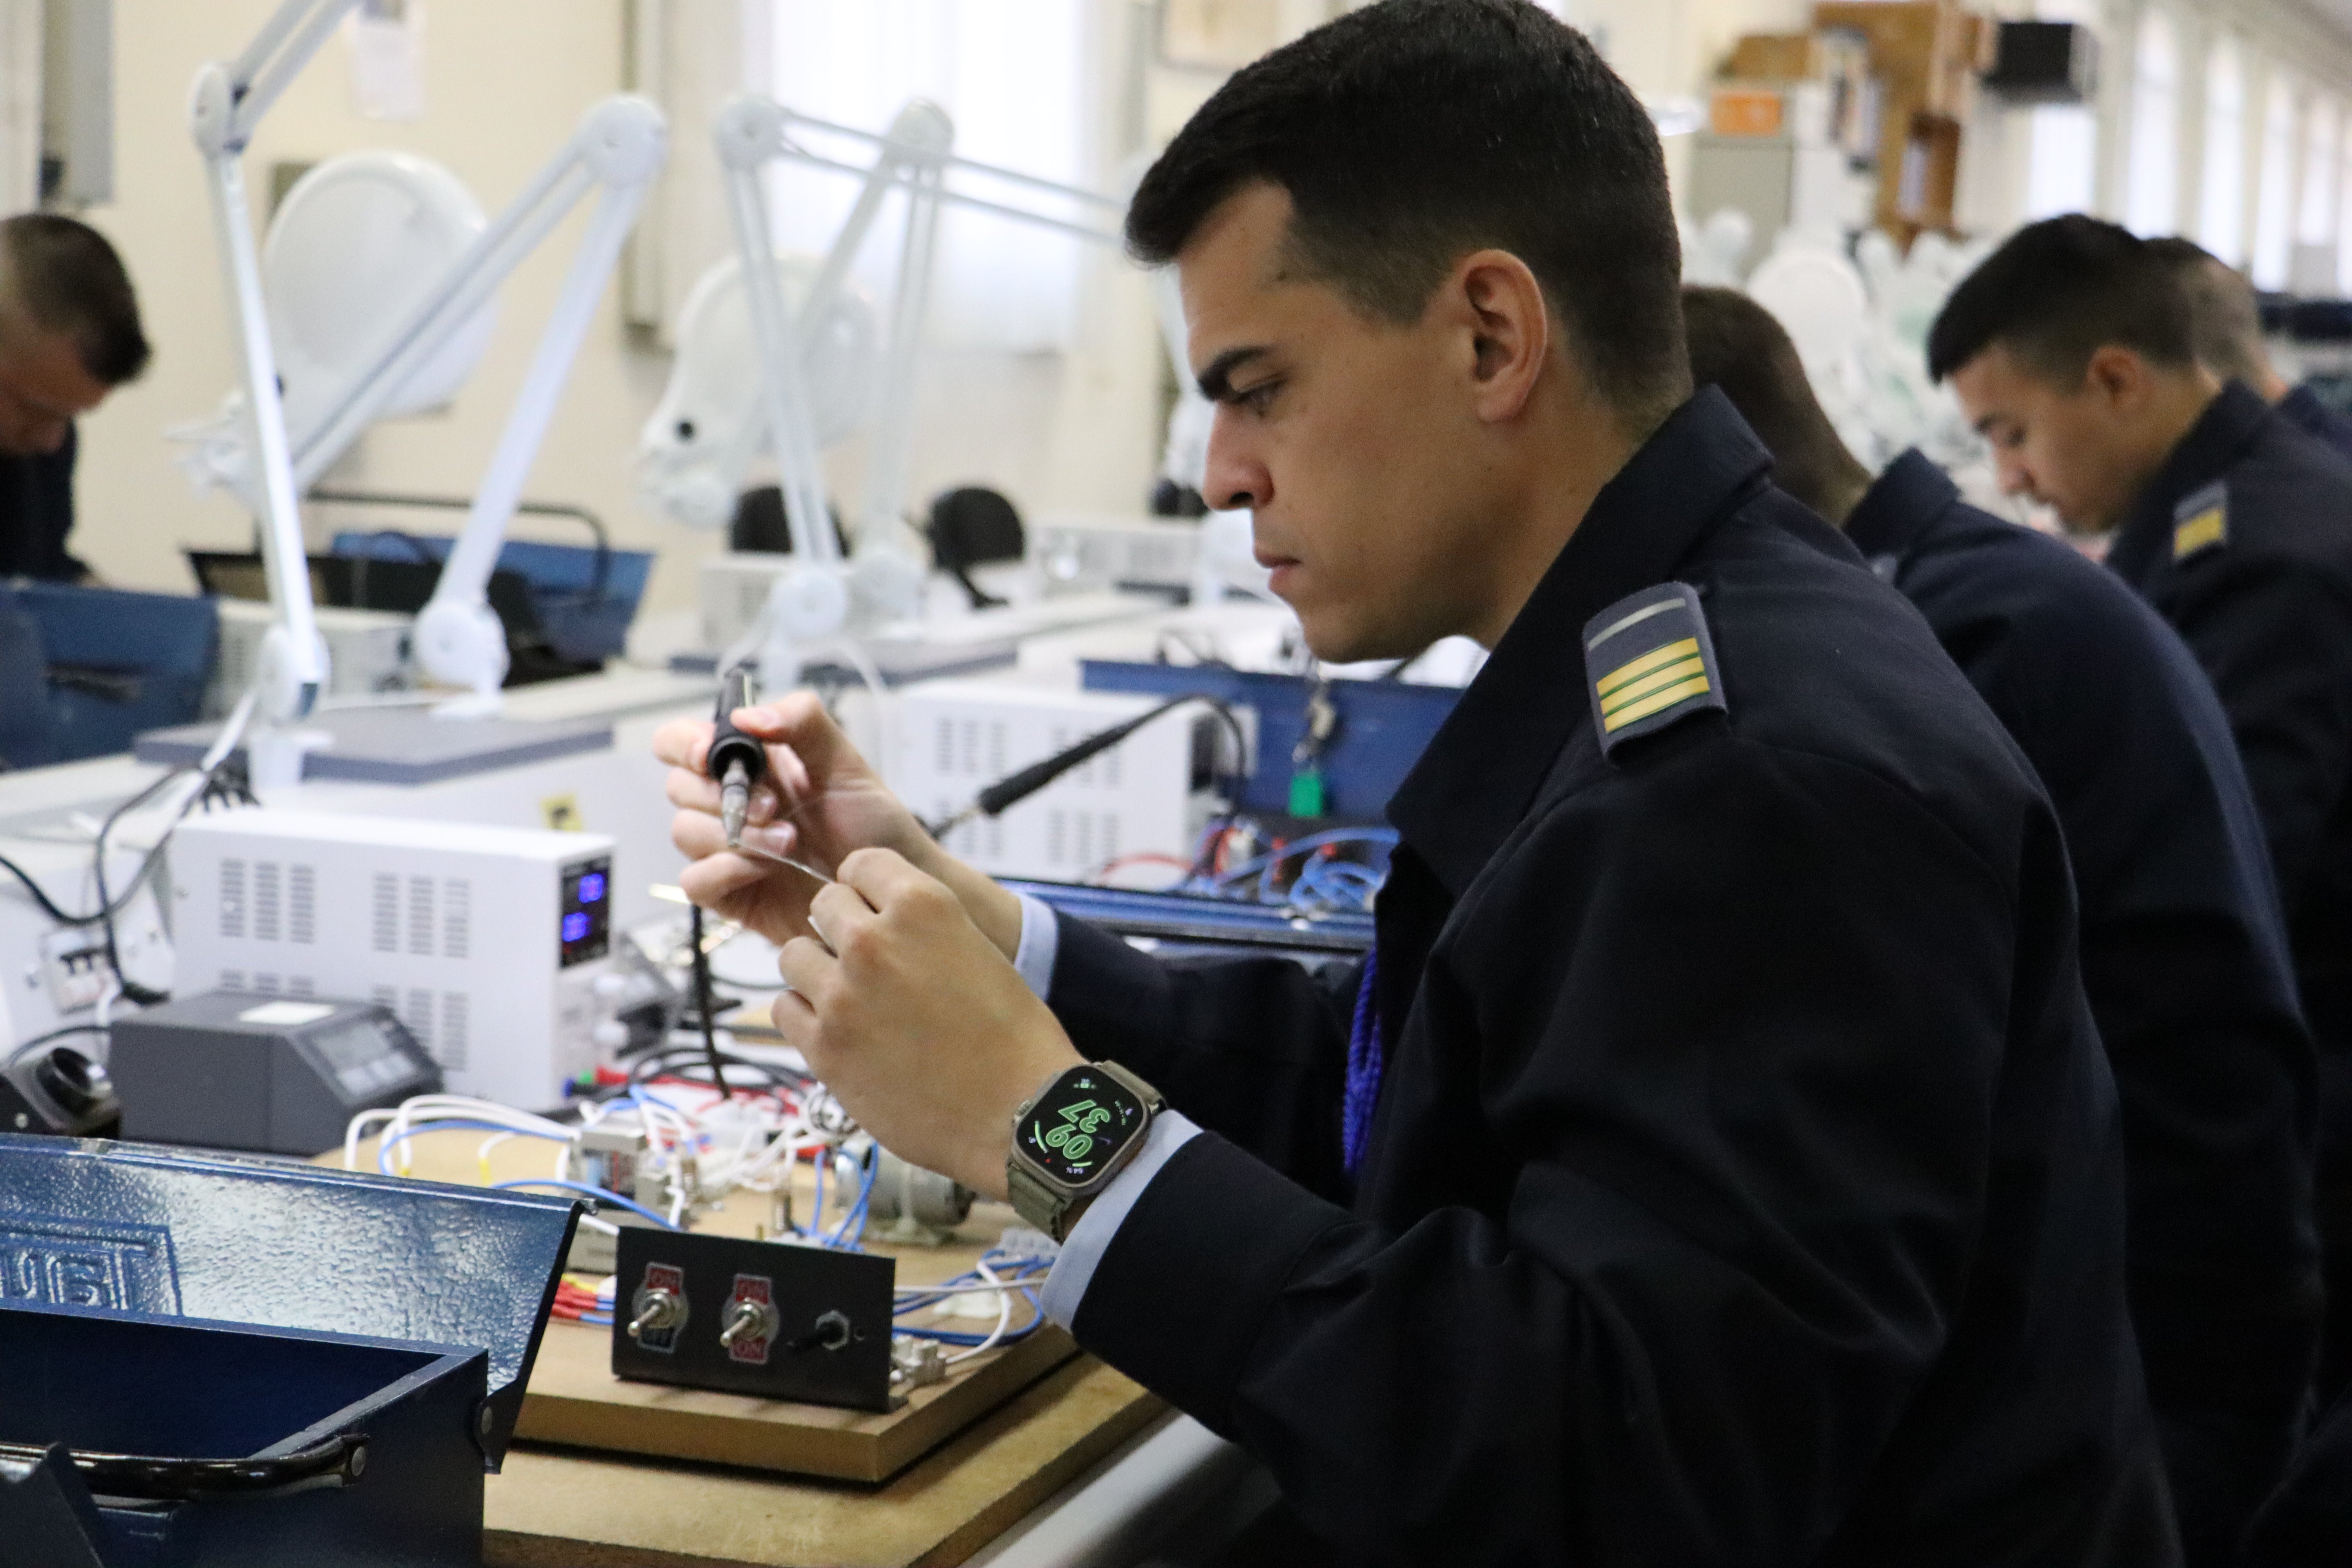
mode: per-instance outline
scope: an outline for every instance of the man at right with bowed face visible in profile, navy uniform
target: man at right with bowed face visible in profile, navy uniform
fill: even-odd
[[[2002,484],[2112,534],[2237,736],[2319,1046],[2319,1387],[2352,1375],[2352,463],[2194,357],[2178,273],[2114,223],[2018,230],[1929,334]]]

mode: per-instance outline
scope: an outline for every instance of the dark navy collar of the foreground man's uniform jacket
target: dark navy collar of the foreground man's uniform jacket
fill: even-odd
[[[1461,898],[1590,724],[1585,621],[1672,576],[1771,470],[1731,402],[1700,390],[1592,498],[1526,609],[1388,802],[1388,820]]]

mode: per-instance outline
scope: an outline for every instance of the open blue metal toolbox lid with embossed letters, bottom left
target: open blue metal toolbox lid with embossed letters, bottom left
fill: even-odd
[[[496,1465],[579,1213],[529,1192],[0,1133],[0,1300],[482,1349]]]

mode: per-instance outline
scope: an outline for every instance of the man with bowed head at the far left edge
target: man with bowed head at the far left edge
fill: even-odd
[[[0,219],[0,576],[80,581],[73,421],[139,376],[148,343],[122,259],[49,212]]]

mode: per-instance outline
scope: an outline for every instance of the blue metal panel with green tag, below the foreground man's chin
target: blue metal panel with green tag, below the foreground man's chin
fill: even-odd
[[[1263,675],[1230,665],[1157,665],[1089,658],[1080,665],[1087,691],[1138,691],[1145,696],[1214,696],[1235,708],[1258,710],[1258,755],[1242,785],[1244,811],[1291,809],[1291,755],[1308,726],[1315,682],[1303,675]],[[1324,816],[1369,823],[1388,811],[1388,797],[1421,762],[1430,736],[1454,712],[1454,686],[1406,682],[1336,679],[1327,696],[1338,726],[1317,759],[1324,776]]]

